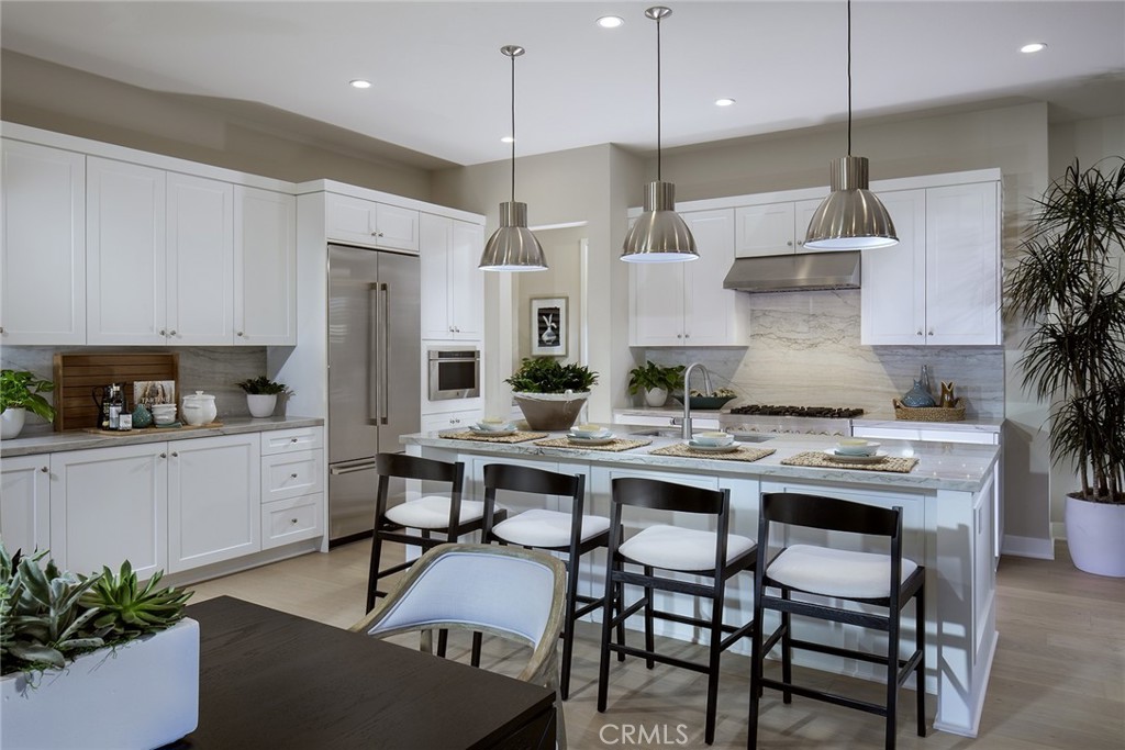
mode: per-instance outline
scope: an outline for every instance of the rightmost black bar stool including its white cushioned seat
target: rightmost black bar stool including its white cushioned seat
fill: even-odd
[[[806,527],[845,532],[866,537],[884,537],[890,551],[861,552],[839,546],[794,543],[768,555],[771,526]],[[926,737],[926,570],[902,557],[902,508],[881,508],[834,497],[799,493],[765,493],[758,516],[758,560],[754,576],[754,618],[750,662],[750,715],[748,748],[757,747],[758,710],[762,688],[782,692],[784,703],[796,695],[866,711],[886,720],[886,750],[894,749],[899,688],[910,676],[916,679],[918,737]],[[813,595],[810,598],[807,595]],[[827,598],[825,598],[827,597]],[[915,603],[915,649],[899,654],[902,609]],[[848,607],[860,603],[863,608]],[[872,611],[878,607],[876,611]],[[777,629],[764,632],[764,613],[781,613]],[[801,640],[793,635],[793,615],[870,627],[886,633],[886,649],[876,653],[829,643]],[[763,659],[781,643],[782,678],[763,675]],[[793,649],[881,665],[886,674],[886,695],[881,704],[817,690],[793,684]]]

